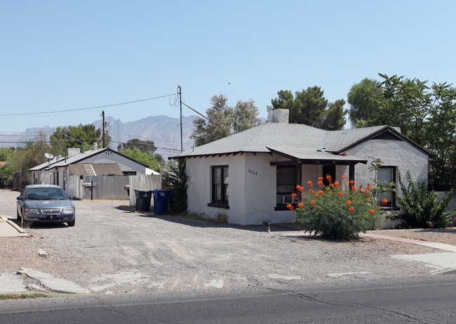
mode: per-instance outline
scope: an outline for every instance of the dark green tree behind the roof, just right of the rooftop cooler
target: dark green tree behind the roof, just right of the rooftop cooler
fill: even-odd
[[[308,87],[306,90],[280,90],[278,97],[271,100],[274,109],[289,110],[289,122],[306,124],[326,130],[342,129],[346,122],[344,99],[334,103],[327,101],[320,86]]]

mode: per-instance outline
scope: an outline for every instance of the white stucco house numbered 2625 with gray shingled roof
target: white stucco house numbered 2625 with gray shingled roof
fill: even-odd
[[[370,162],[383,160],[378,180],[398,182],[398,171],[427,180],[428,158],[421,146],[389,126],[325,131],[289,124],[288,110],[269,110],[268,122],[184,151],[188,211],[241,225],[291,222],[286,207],[296,186],[329,174],[345,175],[356,186],[373,184]],[[400,192],[398,193],[400,194]],[[396,207],[396,197],[385,197]],[[390,204],[388,204],[390,205]],[[400,212],[400,211],[398,211]]]

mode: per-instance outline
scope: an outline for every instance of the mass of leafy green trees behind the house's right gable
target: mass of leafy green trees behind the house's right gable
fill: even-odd
[[[360,119],[354,127],[389,125],[434,154],[429,160],[429,180],[434,185],[456,185],[456,89],[450,84],[426,85],[426,81],[379,73],[383,81],[358,84]],[[380,86],[380,89],[377,86]],[[351,109],[353,105],[351,105]],[[357,109],[357,108],[356,108]],[[367,112],[367,113],[365,113]],[[358,110],[353,112],[357,116]],[[364,114],[364,115],[363,115]],[[352,116],[352,114],[350,113]]]

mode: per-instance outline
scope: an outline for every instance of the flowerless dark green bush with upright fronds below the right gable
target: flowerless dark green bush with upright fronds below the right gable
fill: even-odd
[[[455,196],[450,191],[442,199],[438,193],[429,191],[426,181],[412,181],[410,171],[407,171],[407,185],[398,173],[400,188],[404,197],[398,197],[399,206],[406,210],[403,215],[395,215],[396,219],[403,219],[414,228],[445,227],[452,223],[452,216],[456,209],[447,209]]]

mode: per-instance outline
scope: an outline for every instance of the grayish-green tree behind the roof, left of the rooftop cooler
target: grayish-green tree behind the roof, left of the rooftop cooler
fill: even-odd
[[[223,94],[211,98],[211,107],[207,108],[206,116],[207,119],[197,117],[193,120],[190,137],[195,139],[197,146],[245,131],[260,122],[254,101],[237,101],[235,108],[232,108]]]

